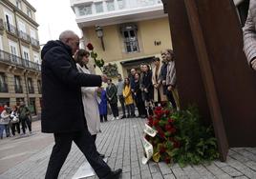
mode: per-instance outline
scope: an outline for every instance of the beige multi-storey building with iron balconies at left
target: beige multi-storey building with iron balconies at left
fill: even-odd
[[[0,1],[0,105],[20,101],[41,112],[41,66],[35,9],[26,0]]]

